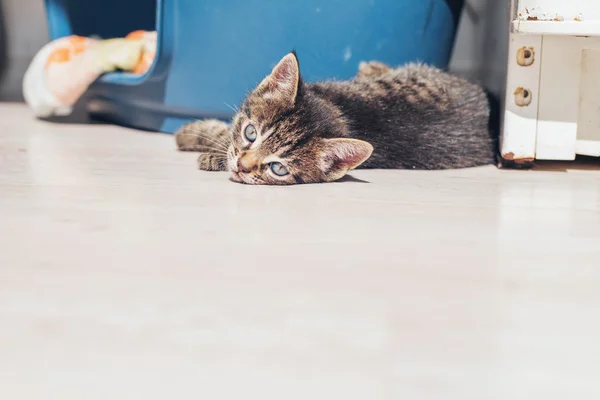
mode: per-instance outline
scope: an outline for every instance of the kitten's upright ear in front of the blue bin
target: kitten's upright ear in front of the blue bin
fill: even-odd
[[[257,90],[265,99],[283,101],[286,106],[293,106],[298,95],[300,83],[300,67],[295,53],[283,57],[258,85]]]

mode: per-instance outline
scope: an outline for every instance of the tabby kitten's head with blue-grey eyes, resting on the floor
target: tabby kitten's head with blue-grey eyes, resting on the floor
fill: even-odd
[[[339,109],[306,90],[295,53],[250,93],[231,133],[233,180],[255,185],[334,181],[373,152],[369,143],[346,138]]]

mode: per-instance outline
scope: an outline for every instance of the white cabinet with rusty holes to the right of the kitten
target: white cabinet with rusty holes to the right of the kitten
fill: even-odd
[[[600,0],[512,4],[501,153],[600,156]]]

